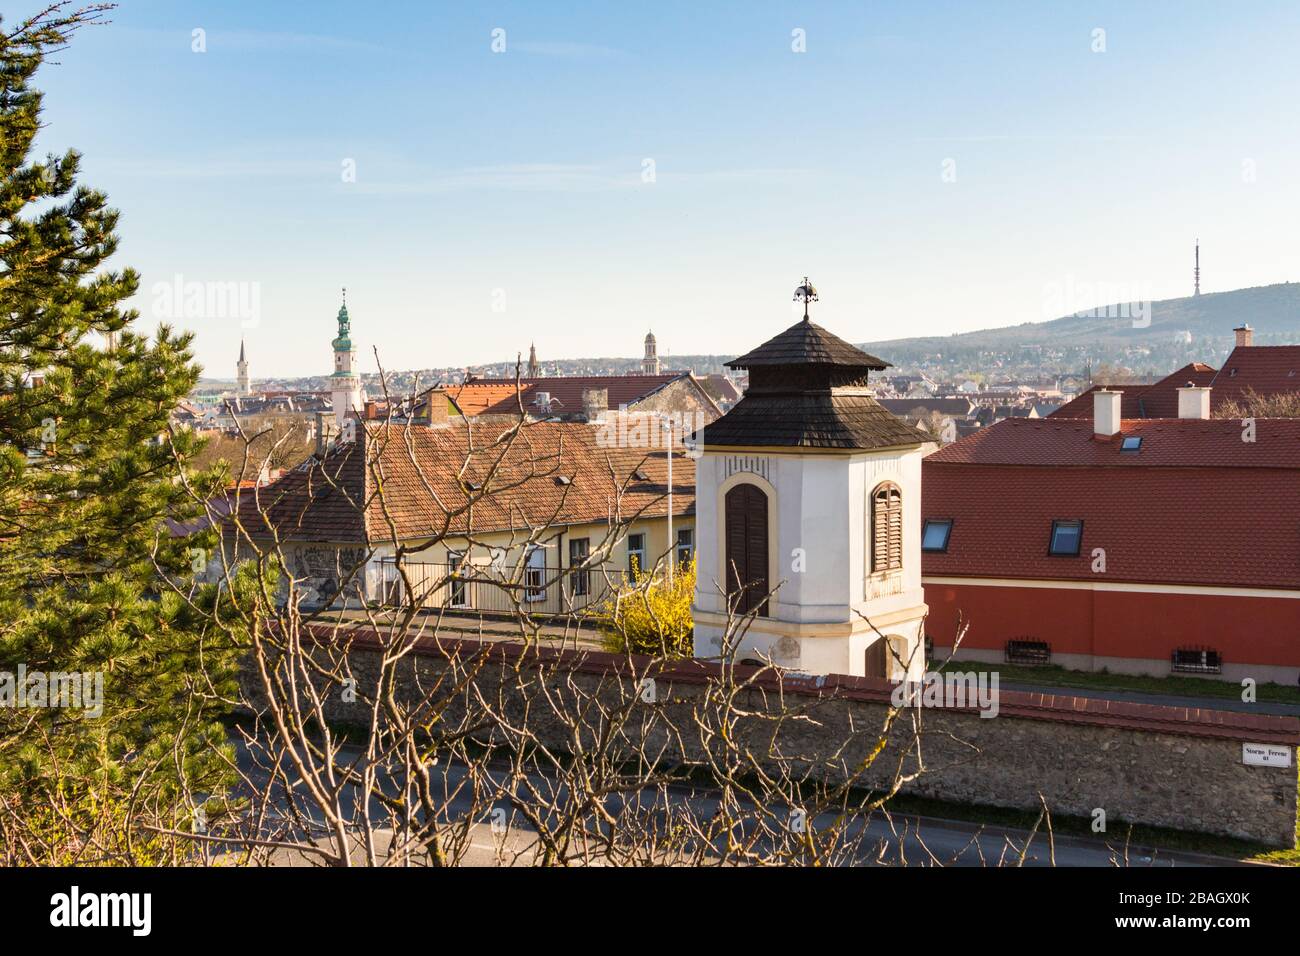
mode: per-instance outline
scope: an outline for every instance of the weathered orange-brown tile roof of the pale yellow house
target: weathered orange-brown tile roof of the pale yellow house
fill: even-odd
[[[360,442],[338,446],[324,462],[256,496],[242,493],[239,516],[250,533],[269,536],[269,524],[287,540],[373,542],[668,511],[664,451],[604,447],[599,425],[534,421],[508,441],[506,427],[471,434],[458,424],[359,421],[358,434]],[[361,466],[363,447],[369,467]],[[694,512],[694,466],[673,457],[673,514]]]

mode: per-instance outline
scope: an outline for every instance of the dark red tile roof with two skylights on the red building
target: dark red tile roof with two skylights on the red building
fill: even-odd
[[[1253,444],[1216,419],[1122,434],[1141,450],[1086,423],[1006,420],[924,459],[922,515],[953,519],[926,576],[1300,588],[1300,420],[1260,419]],[[1048,555],[1054,519],[1083,522],[1079,557]]]

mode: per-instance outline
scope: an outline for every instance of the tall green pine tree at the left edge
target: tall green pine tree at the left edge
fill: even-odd
[[[144,823],[188,829],[224,780],[229,652],[162,580],[192,579],[195,542],[165,523],[195,514],[178,476],[196,441],[168,434],[198,381],[191,336],[135,330],[120,303],[138,276],[105,268],[117,211],[78,185],[75,151],[32,155],[32,75],[108,9],[60,3],[0,22],[0,857],[12,862],[156,860],[174,845]],[[103,674],[101,715],[84,701],[16,706],[20,665]]]

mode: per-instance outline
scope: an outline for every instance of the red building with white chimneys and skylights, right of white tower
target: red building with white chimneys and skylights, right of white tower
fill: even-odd
[[[1008,419],[924,460],[936,653],[961,617],[967,659],[1295,684],[1300,420],[1210,419],[1192,384],[1178,418],[1088,399],[1087,419]]]

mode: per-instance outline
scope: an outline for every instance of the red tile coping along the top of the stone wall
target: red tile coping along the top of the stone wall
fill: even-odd
[[[313,624],[304,628],[318,643],[351,643],[358,649],[381,649],[391,644],[369,626]],[[716,679],[722,670],[718,662],[689,659],[668,661],[654,666],[651,658],[615,654],[603,650],[558,649],[525,645],[515,641],[480,641],[460,637],[420,637],[412,653],[422,657],[459,657],[468,659],[486,656],[503,665],[554,663],[581,674],[636,672],[679,684],[706,684]],[[850,701],[888,704],[894,684],[875,678],[853,678],[832,674],[810,676],[806,674],[779,674],[760,667],[734,665],[736,680],[753,678],[753,687],[767,692],[801,696],[837,697]],[[755,676],[757,675],[757,676]],[[945,708],[978,713],[976,708]],[[1218,737],[1243,743],[1279,744],[1300,747],[1300,718],[1271,714],[1244,714],[1234,710],[1209,708],[1176,708],[1157,704],[1134,704],[1104,697],[1075,697],[1069,695],[1028,693],[1024,691],[998,691],[998,717],[1019,717],[1030,721],[1082,723],[1097,727],[1117,727],[1178,736]]]

